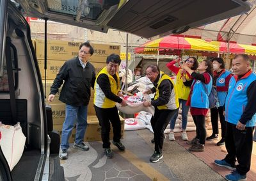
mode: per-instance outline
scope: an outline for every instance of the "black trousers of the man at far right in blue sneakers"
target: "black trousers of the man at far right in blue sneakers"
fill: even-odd
[[[246,127],[245,130],[239,130],[236,125],[227,123],[225,143],[228,154],[225,161],[234,166],[237,159],[236,170],[241,175],[246,175],[250,170],[253,129],[254,127]]]

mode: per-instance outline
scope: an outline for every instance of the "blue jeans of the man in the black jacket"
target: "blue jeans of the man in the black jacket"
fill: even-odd
[[[70,137],[76,121],[75,142],[77,144],[81,144],[83,142],[84,133],[87,127],[87,109],[87,106],[70,106],[66,104],[66,116],[61,134],[61,149],[69,148],[68,138]]]

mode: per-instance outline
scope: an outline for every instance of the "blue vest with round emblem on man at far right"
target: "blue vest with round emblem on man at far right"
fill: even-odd
[[[225,102],[227,122],[236,125],[240,120],[248,102],[246,95],[247,89],[255,80],[256,75],[254,73],[249,74],[247,77],[242,77],[238,81],[236,81],[236,77],[231,77],[228,87],[228,95]],[[252,120],[246,123],[246,127],[254,127],[255,120],[256,114],[252,117]]]

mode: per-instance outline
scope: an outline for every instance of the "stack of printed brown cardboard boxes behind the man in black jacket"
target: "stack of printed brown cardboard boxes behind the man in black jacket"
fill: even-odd
[[[39,69],[42,75],[42,80],[44,84],[44,79],[46,79],[46,86],[44,88],[46,97],[48,98],[51,91],[51,86],[56,75],[60,71],[62,65],[68,59],[78,56],[79,45],[81,42],[67,42],[61,40],[47,40],[47,70],[45,77],[44,70],[44,40],[33,40],[33,45],[36,50],[36,57],[38,59]],[[102,45],[102,44],[92,44],[94,49],[94,54],[90,58],[90,63],[95,67],[95,72],[98,74],[102,68],[106,67],[106,58],[110,54],[120,55],[120,45]],[[61,88],[59,89],[59,93]],[[60,102],[59,93],[56,94],[54,101],[51,103],[52,107],[52,118],[53,118],[53,128],[58,131],[61,135],[63,122],[65,120],[65,104]],[[97,117],[95,116],[95,109],[93,107],[93,97],[94,91],[91,88],[91,98],[88,104],[88,127],[86,129],[86,136],[84,140],[86,141],[98,141],[100,140],[100,126]],[[122,119],[122,136],[124,134],[124,120]],[[111,131],[111,137],[113,132]],[[76,128],[72,130],[72,135],[70,136],[69,143],[74,143],[76,137]]]

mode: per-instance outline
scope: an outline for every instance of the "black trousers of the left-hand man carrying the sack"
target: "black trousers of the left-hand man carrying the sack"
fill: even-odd
[[[113,141],[119,142],[121,138],[121,122],[116,107],[113,108],[100,108],[94,106],[96,116],[101,126],[101,139],[103,142],[103,148],[110,148],[109,132],[110,123],[113,127]]]

